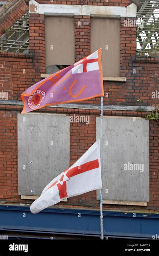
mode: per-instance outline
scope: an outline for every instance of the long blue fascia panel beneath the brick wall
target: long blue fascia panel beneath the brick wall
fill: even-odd
[[[133,216],[130,212],[103,211],[104,235],[151,238],[158,233],[159,214]],[[0,205],[0,230],[100,236],[100,211],[50,207],[32,214],[29,206]]]

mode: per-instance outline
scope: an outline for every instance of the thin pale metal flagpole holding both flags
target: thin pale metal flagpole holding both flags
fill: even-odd
[[[101,60],[102,60],[102,48],[101,48]],[[101,178],[102,178],[102,171],[103,171],[103,96],[101,97],[101,139],[100,139],[100,146],[101,146]],[[103,198],[102,198],[102,188],[100,189],[100,222],[101,222],[101,239],[103,240]]]

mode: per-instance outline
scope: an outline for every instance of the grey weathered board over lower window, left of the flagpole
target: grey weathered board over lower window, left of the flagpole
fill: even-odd
[[[18,195],[40,196],[69,167],[69,116],[18,114]]]

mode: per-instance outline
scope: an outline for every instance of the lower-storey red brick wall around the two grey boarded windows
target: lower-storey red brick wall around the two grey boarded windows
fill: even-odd
[[[10,202],[30,202],[21,200],[17,195],[17,113],[22,106],[0,105],[0,198]],[[89,115],[90,124],[80,127],[78,123],[70,123],[70,165],[80,158],[96,141],[95,118],[100,116],[99,110],[43,108],[36,110],[45,113],[66,113],[67,115]],[[135,111],[104,111],[107,116],[144,117],[145,113]],[[104,209],[116,210],[159,210],[159,129],[157,121],[150,121],[150,203],[147,206],[103,205]],[[56,207],[99,207],[96,191],[75,196],[68,202],[60,202]]]

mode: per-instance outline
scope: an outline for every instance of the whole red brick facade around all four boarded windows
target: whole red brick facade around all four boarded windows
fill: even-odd
[[[88,4],[127,6],[131,1],[88,1]],[[50,3],[50,1],[39,1]],[[62,1],[51,3],[65,4]],[[70,1],[67,4],[77,4]],[[143,99],[143,105],[158,103],[152,99],[152,92],[158,89],[157,60],[136,58],[136,28],[124,27],[121,19],[121,52],[120,72],[126,76],[127,82],[104,82],[104,104],[138,105],[137,99]],[[75,15],[75,61],[90,54],[90,17]],[[81,25],[78,26],[78,22]],[[0,90],[8,91],[9,99],[19,100],[25,89],[40,81],[40,74],[45,73],[45,23],[43,14],[30,14],[30,54],[0,53]],[[23,73],[25,69],[25,74]],[[133,71],[136,71],[134,73]],[[82,103],[82,102],[81,102]],[[100,98],[84,101],[84,103],[100,104]],[[21,200],[17,196],[17,113],[21,106],[0,105],[0,198],[7,201],[30,202]],[[43,108],[36,112],[66,113],[67,115],[90,115],[90,124],[80,127],[77,123],[70,123],[70,165],[72,165],[96,140],[95,118],[100,111],[84,109]],[[134,111],[105,111],[104,115],[111,116],[145,116],[145,113]],[[144,206],[104,205],[104,209],[159,210],[159,128],[158,122],[150,121],[150,203]],[[9,154],[8,154],[9,152]],[[12,166],[11,166],[12,165]],[[8,172],[9,171],[9,172]],[[13,181],[13,182],[12,182]],[[9,184],[9,185],[6,185]],[[12,185],[14,184],[14,185]],[[15,197],[12,197],[15,196]],[[99,207],[96,191],[72,197],[68,202],[58,206],[71,207]],[[57,207],[57,205],[56,205]]]

